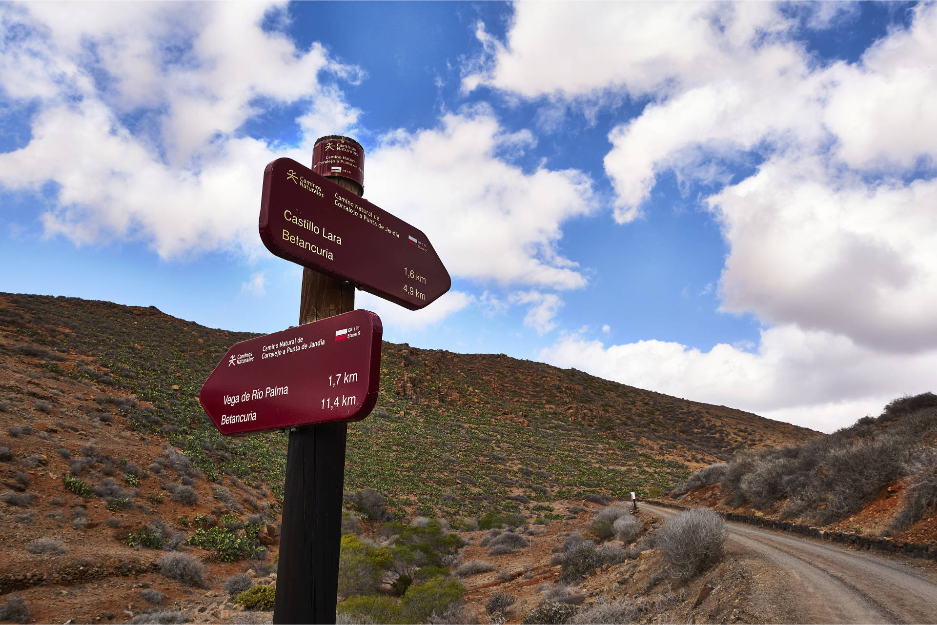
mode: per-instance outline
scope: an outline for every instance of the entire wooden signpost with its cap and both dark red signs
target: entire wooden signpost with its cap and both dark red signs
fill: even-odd
[[[222,434],[289,428],[275,623],[335,623],[345,443],[379,389],[381,325],[355,287],[411,310],[452,281],[426,235],[364,191],[364,149],[321,137],[313,168],[264,171],[260,239],[305,267],[300,325],[233,346],[199,399]]]

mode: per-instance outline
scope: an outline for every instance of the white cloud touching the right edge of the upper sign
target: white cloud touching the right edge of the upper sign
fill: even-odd
[[[577,170],[525,172],[499,155],[523,151],[528,132],[508,133],[479,107],[439,126],[385,137],[367,156],[365,195],[419,224],[453,275],[498,285],[574,289],[586,284],[558,252],[561,226],[598,208]]]

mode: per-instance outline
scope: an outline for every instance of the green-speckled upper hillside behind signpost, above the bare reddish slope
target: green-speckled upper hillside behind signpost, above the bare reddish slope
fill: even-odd
[[[285,436],[226,440],[197,400],[224,351],[254,335],[206,328],[152,306],[9,294],[0,295],[0,332],[7,363],[30,367],[40,379],[78,383],[91,395],[47,397],[51,412],[37,411],[22,396],[22,382],[8,379],[7,365],[0,383],[18,397],[6,400],[7,415],[87,416],[98,394],[128,397],[135,406],[111,405],[114,425],[170,442],[209,480],[227,472],[281,493]],[[91,402],[92,409],[109,405]],[[814,436],[575,369],[385,343],[378,407],[350,425],[347,484],[388,494],[400,513],[478,514],[525,505],[505,499],[512,495],[669,489],[741,450]]]

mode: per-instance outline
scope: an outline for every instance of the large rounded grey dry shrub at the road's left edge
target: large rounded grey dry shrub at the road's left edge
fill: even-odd
[[[702,573],[722,556],[729,534],[725,519],[708,508],[693,508],[667,520],[655,541],[677,579]]]

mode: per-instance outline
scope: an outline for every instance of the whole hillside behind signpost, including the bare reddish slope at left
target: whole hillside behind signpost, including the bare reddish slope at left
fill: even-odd
[[[223,583],[275,580],[286,436],[225,439],[197,396],[252,336],[154,307],[0,294],[0,600],[22,593],[38,622],[160,606],[239,618]],[[346,490],[383,493],[403,520],[565,524],[576,505],[820,436],[503,355],[383,350],[378,408],[350,424]],[[173,548],[207,566],[197,583],[177,563],[167,576]]]

